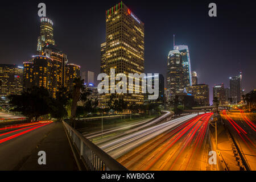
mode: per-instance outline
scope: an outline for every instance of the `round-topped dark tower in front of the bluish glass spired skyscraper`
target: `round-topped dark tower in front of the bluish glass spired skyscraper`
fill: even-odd
[[[168,54],[167,63],[167,100],[170,96],[183,93],[184,86],[184,69],[182,56],[179,50],[175,49]]]

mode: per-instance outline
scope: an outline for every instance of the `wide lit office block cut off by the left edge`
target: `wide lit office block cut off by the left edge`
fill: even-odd
[[[20,94],[23,90],[23,66],[18,64],[0,64],[0,97]]]

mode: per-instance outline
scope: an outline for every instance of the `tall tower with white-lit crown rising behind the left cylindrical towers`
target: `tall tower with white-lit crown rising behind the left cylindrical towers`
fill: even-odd
[[[38,37],[37,54],[42,55],[46,44],[55,44],[53,39],[53,22],[51,19],[43,17],[40,19],[40,36]]]

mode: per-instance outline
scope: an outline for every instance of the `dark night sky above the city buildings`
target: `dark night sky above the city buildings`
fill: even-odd
[[[119,1],[1,2],[0,64],[22,64],[35,55],[39,36],[38,3],[47,6],[57,47],[81,71],[100,73],[105,42],[105,11]],[[217,17],[208,16],[210,2]],[[175,44],[188,45],[199,83],[212,87],[242,71],[242,88],[256,88],[256,15],[253,1],[123,1],[144,23],[145,73],[166,78],[167,55]]]

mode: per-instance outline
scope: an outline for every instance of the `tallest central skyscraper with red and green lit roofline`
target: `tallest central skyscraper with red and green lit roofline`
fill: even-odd
[[[144,73],[144,23],[122,2],[106,10],[106,56],[101,72]],[[102,45],[102,57],[104,45]],[[128,88],[128,84],[127,84]],[[141,85],[138,89],[141,92]],[[106,94],[109,96],[109,94]],[[117,94],[130,104],[143,104],[143,94]]]

